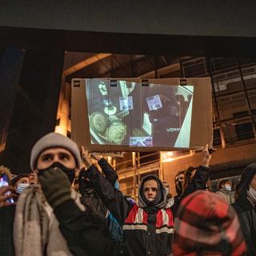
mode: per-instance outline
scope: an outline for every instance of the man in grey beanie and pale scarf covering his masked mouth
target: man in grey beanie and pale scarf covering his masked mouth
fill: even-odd
[[[18,199],[16,255],[110,255],[114,251],[105,222],[87,214],[70,189],[80,163],[78,146],[70,138],[50,133],[36,142],[30,166],[41,186],[27,188]]]

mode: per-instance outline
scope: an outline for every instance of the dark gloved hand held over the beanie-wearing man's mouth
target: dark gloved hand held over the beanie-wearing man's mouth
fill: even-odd
[[[38,176],[38,180],[47,202],[53,209],[71,198],[70,181],[60,168],[45,170]]]

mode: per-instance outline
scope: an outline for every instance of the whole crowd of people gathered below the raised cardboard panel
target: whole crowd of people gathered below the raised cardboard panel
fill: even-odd
[[[31,150],[30,174],[0,166],[10,180],[0,187],[0,255],[256,255],[256,163],[235,193],[228,179],[213,193],[210,158],[204,148],[200,166],[178,172],[174,197],[147,175],[135,200],[101,155],[46,134]]]

